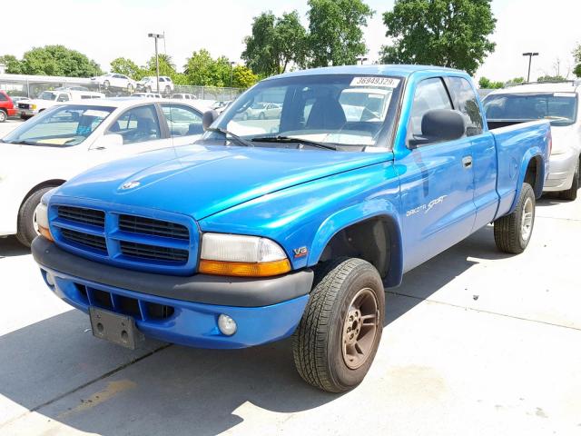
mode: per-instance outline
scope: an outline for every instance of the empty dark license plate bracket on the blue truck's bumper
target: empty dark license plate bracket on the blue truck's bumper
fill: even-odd
[[[131,316],[90,307],[89,318],[93,335],[99,339],[130,350],[135,350],[139,343],[143,342],[143,333],[137,330],[135,320]]]

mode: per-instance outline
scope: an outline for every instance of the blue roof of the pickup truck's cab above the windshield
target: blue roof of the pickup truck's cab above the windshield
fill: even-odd
[[[280,77],[295,77],[300,75],[318,75],[318,74],[369,74],[369,75],[396,75],[399,77],[409,77],[419,71],[432,71],[434,73],[461,73],[466,74],[461,70],[453,68],[446,68],[443,66],[432,65],[343,65],[343,66],[326,66],[322,68],[312,68],[310,70],[293,71],[291,73],[284,73],[274,75],[265,80]]]

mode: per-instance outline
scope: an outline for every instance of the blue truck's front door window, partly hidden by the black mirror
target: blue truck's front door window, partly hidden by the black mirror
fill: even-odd
[[[409,115],[409,138],[414,135],[421,136],[421,119],[424,114],[434,109],[452,109],[446,87],[439,77],[423,80],[416,86]]]

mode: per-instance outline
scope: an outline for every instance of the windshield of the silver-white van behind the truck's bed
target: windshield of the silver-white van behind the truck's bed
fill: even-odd
[[[575,93],[494,94],[484,100],[488,120],[542,120],[552,125],[575,123]]]

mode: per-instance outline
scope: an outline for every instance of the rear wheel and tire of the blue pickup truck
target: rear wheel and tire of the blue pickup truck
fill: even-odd
[[[517,207],[494,222],[494,241],[501,252],[520,254],[525,251],[535,226],[535,192],[523,183]]]

